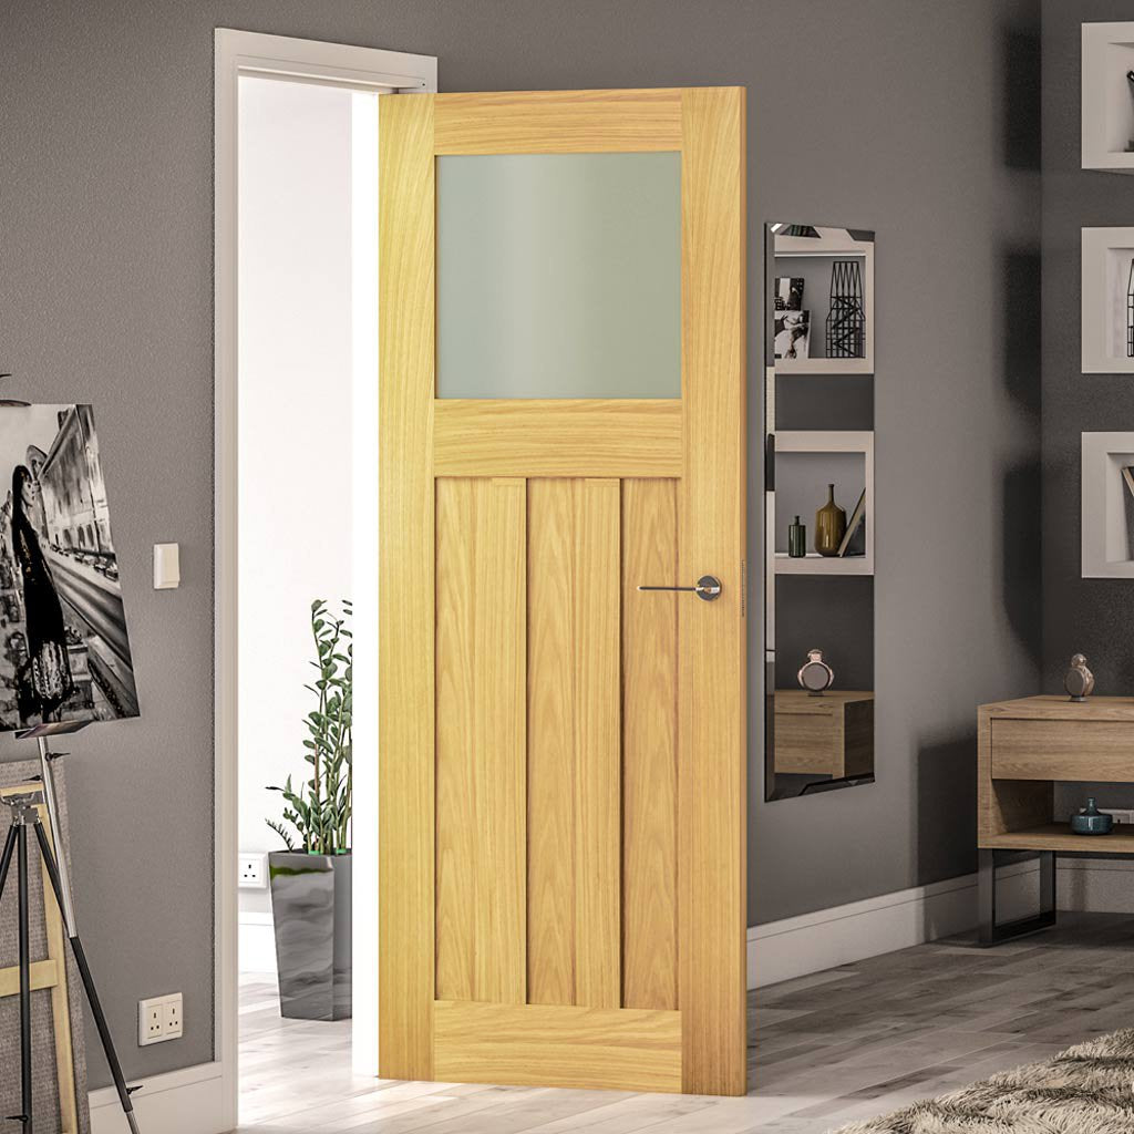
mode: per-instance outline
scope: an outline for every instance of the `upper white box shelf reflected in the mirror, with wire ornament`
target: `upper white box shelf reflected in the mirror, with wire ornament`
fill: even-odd
[[[846,228],[810,228],[814,235],[784,235],[799,226],[772,225],[773,254],[769,296],[775,296],[777,276],[798,276],[806,280],[804,310],[811,312],[811,353],[805,358],[775,358],[776,372],[788,374],[873,374],[874,373],[874,237]],[[810,227],[810,226],[809,226]],[[850,260],[862,268],[862,308],[865,315],[864,354],[861,358],[823,356],[827,315],[830,310],[830,281],[836,261]],[[816,291],[819,293],[816,296]]]

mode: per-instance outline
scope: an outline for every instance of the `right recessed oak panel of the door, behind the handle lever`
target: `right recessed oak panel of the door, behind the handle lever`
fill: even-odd
[[[623,481],[623,1005],[677,1005],[677,485]]]

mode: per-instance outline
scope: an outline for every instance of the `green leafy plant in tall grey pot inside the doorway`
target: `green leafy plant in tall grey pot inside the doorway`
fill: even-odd
[[[316,706],[304,725],[311,778],[298,789],[288,776],[280,821],[268,826],[285,850],[268,855],[279,966],[280,1013],[291,1019],[350,1016],[350,603],[341,616],[322,599],[311,604],[319,676],[305,686]]]

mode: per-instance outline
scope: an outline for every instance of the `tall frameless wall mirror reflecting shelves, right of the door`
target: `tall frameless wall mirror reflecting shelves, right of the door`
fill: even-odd
[[[874,234],[769,225],[764,798],[874,780]]]

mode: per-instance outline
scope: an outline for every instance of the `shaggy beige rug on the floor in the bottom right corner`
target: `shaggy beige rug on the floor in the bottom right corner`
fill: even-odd
[[[1134,1029],[839,1134],[1134,1134]]]

